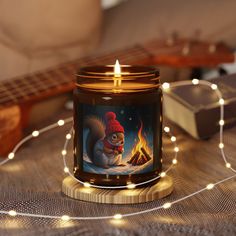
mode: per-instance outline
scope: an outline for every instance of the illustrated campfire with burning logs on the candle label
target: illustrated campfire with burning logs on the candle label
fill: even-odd
[[[142,135],[142,130],[143,123],[141,122],[141,126],[138,131],[138,142],[131,151],[131,158],[129,159],[129,161],[127,161],[127,163],[132,164],[134,166],[143,165],[152,159],[149,155],[150,148],[148,147],[145,137]]]

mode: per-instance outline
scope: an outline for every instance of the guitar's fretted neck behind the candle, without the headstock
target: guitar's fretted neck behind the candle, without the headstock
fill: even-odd
[[[0,82],[0,107],[39,101],[70,91],[74,88],[75,73],[78,67],[112,64],[117,58],[123,64],[135,64],[147,62],[151,55],[143,47],[137,45],[126,50],[103,56],[86,57],[43,72],[2,81]]]

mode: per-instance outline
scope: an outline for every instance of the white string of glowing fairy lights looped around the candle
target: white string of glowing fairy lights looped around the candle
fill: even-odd
[[[179,198],[177,200],[174,200],[172,202],[166,202],[164,203],[163,205],[161,206],[158,206],[158,207],[154,207],[154,208],[149,208],[149,209],[146,209],[146,210],[141,210],[141,211],[136,211],[136,212],[131,212],[131,213],[125,213],[125,214],[120,214],[120,213],[117,213],[117,214],[114,214],[114,215],[108,215],[108,216],[93,216],[93,217],[90,217],[90,216],[87,216],[87,217],[80,217],[80,216],[75,216],[75,217],[72,217],[72,216],[69,216],[69,215],[62,215],[62,216],[57,216],[57,215],[40,215],[40,214],[31,214],[31,213],[27,213],[27,212],[16,212],[15,210],[10,210],[10,211],[4,211],[4,210],[0,210],[0,214],[5,214],[5,215],[9,215],[9,216],[12,216],[12,217],[15,217],[15,216],[27,216],[27,217],[38,217],[38,218],[48,218],[48,219],[59,219],[59,220],[62,220],[62,221],[69,221],[69,220],[104,220],[104,219],[115,219],[115,220],[120,220],[124,217],[130,217],[130,216],[134,216],[134,215],[139,215],[139,214],[144,214],[144,213],[148,213],[148,212],[152,212],[152,211],[156,211],[158,209],[169,209],[172,207],[172,205],[178,203],[178,202],[181,202],[185,199],[188,199],[190,197],[193,197],[203,191],[206,191],[206,190],[212,190],[215,186],[219,185],[219,184],[222,184],[228,180],[231,180],[233,178],[236,177],[236,170],[231,166],[231,163],[228,162],[227,158],[226,158],[226,155],[225,155],[225,152],[224,152],[224,143],[223,143],[223,126],[224,126],[224,104],[225,104],[225,101],[224,99],[222,98],[222,94],[220,92],[220,90],[218,89],[217,85],[216,84],[213,84],[213,83],[210,83],[208,81],[203,81],[203,80],[198,80],[198,79],[193,79],[192,81],[179,81],[179,82],[175,82],[175,83],[172,83],[172,84],[169,84],[169,83],[163,83],[162,85],[162,88],[164,91],[167,91],[168,89],[170,88],[173,88],[173,87],[178,87],[178,86],[186,86],[186,85],[190,85],[190,84],[193,84],[193,85],[205,85],[205,86],[208,86],[210,87],[212,90],[214,90],[218,96],[218,99],[219,99],[219,104],[220,104],[220,120],[219,120],[219,126],[220,126],[220,142],[218,144],[218,148],[220,149],[220,152],[221,152],[221,155],[222,155],[222,158],[225,162],[225,167],[230,169],[232,172],[234,172],[233,175],[227,177],[227,178],[224,178],[218,182],[215,182],[215,183],[209,183],[207,184],[204,188],[196,191],[196,192],[193,192],[187,196],[184,196],[182,198]],[[15,154],[17,152],[17,150],[24,144],[26,143],[28,140],[32,139],[32,138],[36,138],[38,137],[40,134],[44,133],[44,132],[47,132],[51,129],[54,129],[54,128],[57,128],[57,127],[60,127],[60,126],[63,126],[64,124],[67,124],[69,122],[71,122],[73,120],[72,117],[70,118],[67,118],[65,120],[59,120],[57,123],[54,123],[54,124],[51,124],[43,129],[40,129],[40,130],[35,130],[33,131],[30,135],[26,136],[24,139],[22,139],[16,146],[15,148],[12,150],[12,152],[10,152],[8,154],[8,158],[4,159],[3,161],[0,162],[0,166],[7,163],[8,161],[12,160],[14,157],[15,157]],[[83,184],[85,187],[87,188],[90,188],[90,187],[94,187],[94,188],[109,188],[109,189],[116,189],[116,188],[128,188],[128,189],[133,189],[137,186],[140,186],[140,185],[144,185],[146,183],[149,183],[151,181],[154,181],[156,180],[157,178],[164,178],[166,176],[166,173],[172,168],[173,165],[176,165],[178,163],[177,161],[177,154],[179,152],[179,147],[177,146],[177,142],[176,142],[176,137],[173,136],[170,132],[170,128],[169,127],[164,127],[164,131],[165,133],[170,137],[170,140],[171,142],[174,144],[174,158],[172,159],[172,163],[171,165],[167,168],[167,170],[163,171],[160,173],[159,176],[157,176],[156,178],[153,178],[151,180],[148,180],[148,181],[145,181],[145,182],[142,182],[142,183],[139,183],[139,184],[133,184],[133,183],[127,183],[126,186],[97,186],[97,185],[93,185],[91,183],[88,183],[88,182],[82,182],[78,179],[76,179],[74,177],[74,175],[70,172],[70,169],[68,168],[67,166],[67,163],[66,163],[66,155],[67,155],[67,146],[68,146],[68,143],[69,141],[71,140],[72,138],[72,129],[70,130],[70,132],[68,134],[66,134],[66,140],[65,140],[65,143],[64,143],[64,147],[61,151],[61,155],[63,156],[63,164],[64,164],[64,172],[67,173],[68,175],[70,175],[73,179],[75,179],[76,181],[80,182],[81,184]]]

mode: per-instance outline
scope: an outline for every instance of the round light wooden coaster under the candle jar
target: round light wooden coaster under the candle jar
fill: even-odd
[[[62,192],[71,198],[110,204],[149,202],[166,197],[172,191],[173,181],[170,176],[161,178],[158,183],[150,187],[122,190],[84,187],[70,176],[66,177],[62,183]]]

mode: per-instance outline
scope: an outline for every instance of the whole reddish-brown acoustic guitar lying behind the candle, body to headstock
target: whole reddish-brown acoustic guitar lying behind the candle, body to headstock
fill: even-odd
[[[215,67],[234,61],[222,43],[177,39],[154,40],[124,50],[94,55],[45,71],[0,82],[0,155],[6,155],[22,138],[32,105],[71,91],[76,69],[91,64],[156,64],[174,67]]]

